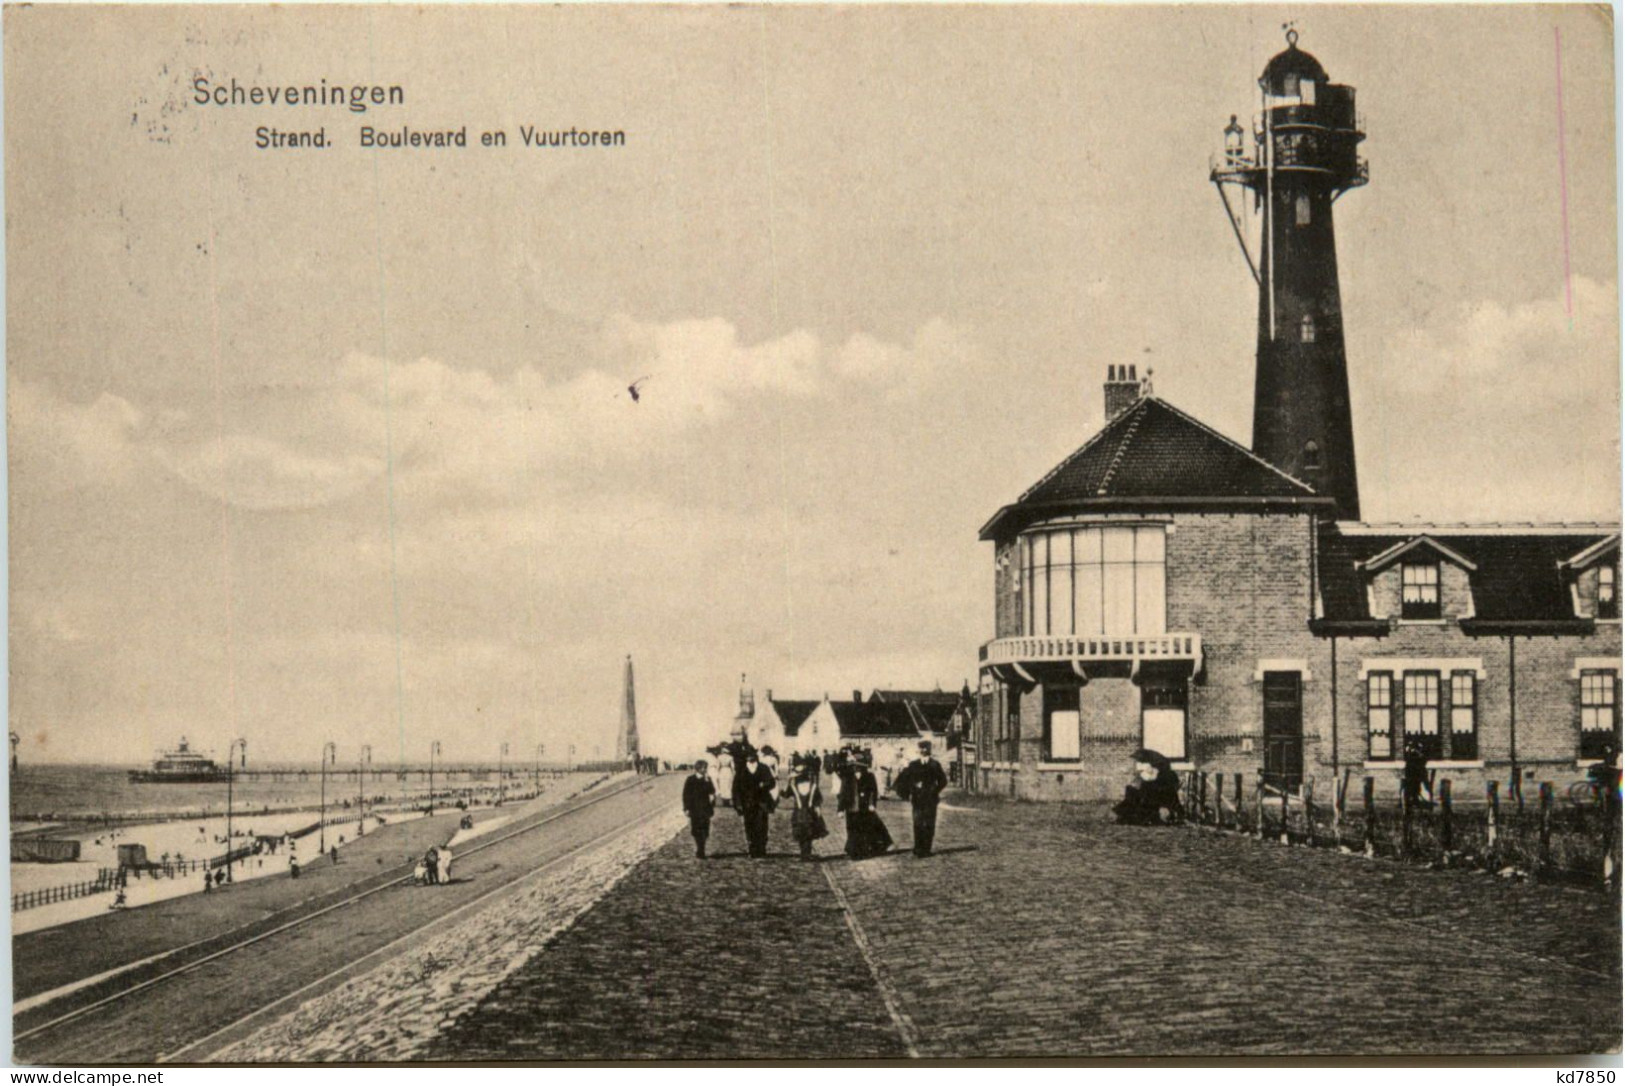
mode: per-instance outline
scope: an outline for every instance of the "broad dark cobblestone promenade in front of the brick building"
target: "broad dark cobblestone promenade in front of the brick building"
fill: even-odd
[[[900,847],[907,810],[884,805]],[[1518,1053],[1620,1039],[1617,904],[951,797],[930,860],[681,834],[427,1058]],[[843,907],[845,906],[845,907]],[[848,915],[850,910],[850,915]],[[861,943],[860,943],[861,938]]]

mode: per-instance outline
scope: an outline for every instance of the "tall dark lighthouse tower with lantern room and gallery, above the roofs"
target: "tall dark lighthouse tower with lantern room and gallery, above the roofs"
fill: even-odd
[[[1230,117],[1212,167],[1259,288],[1253,452],[1334,497],[1341,519],[1358,520],[1332,203],[1367,182],[1365,133],[1354,88],[1332,83],[1298,49],[1297,31],[1287,31],[1285,52],[1264,65],[1258,86],[1263,112],[1251,140]],[[1248,210],[1261,218],[1256,252]]]

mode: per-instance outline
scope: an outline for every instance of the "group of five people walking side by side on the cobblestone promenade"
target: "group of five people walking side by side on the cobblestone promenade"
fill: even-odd
[[[812,858],[812,842],[829,836],[824,821],[824,792],[821,777],[824,759],[814,754],[793,756],[788,784],[780,788],[777,754],[772,748],[730,746],[734,754],[733,806],[744,819],[746,852],[751,857],[767,857],[767,837],[772,814],[780,801],[790,808],[790,836],[803,860]],[[878,805],[879,785],[874,779],[869,751],[843,751],[832,759],[832,769],[840,780],[835,808],[845,819],[845,854],[853,860],[889,852],[892,836],[881,819]],[[931,855],[936,839],[936,810],[947,788],[947,772],[931,758],[931,743],[921,741],[918,756],[897,774],[892,790],[913,808],[913,854]],[[708,762],[702,758],[682,784],[682,811],[689,818],[694,836],[694,855],[705,858],[710,823],[717,811],[717,785],[710,779]]]

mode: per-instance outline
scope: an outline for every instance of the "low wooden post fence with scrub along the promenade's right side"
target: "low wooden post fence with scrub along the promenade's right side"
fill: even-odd
[[[1435,774],[1409,797],[1398,780],[1352,772],[1326,782],[1305,777],[1297,788],[1276,787],[1263,774],[1248,780],[1188,771],[1181,779],[1196,826],[1282,845],[1618,888],[1618,797],[1610,800],[1591,780],[1545,780],[1529,792],[1488,780],[1482,795],[1462,795]]]

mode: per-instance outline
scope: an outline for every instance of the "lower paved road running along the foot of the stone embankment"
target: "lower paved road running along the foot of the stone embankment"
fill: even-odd
[[[629,792],[582,806],[512,841],[497,842],[509,832],[505,828],[491,834],[491,847],[453,865],[452,886],[392,886],[388,883],[410,868],[396,867],[390,871],[385,863],[382,865],[385,873],[375,876],[384,886],[379,893],[288,930],[278,928],[289,917],[306,917],[312,910],[310,901],[266,915],[257,927],[247,928],[247,933],[262,933],[265,938],[224,958],[202,961],[177,979],[32,1036],[28,1036],[28,1031],[41,1019],[58,1014],[62,1006],[52,1003],[32,1016],[20,1016],[16,1058],[31,1063],[146,1063],[162,1055],[184,1053],[198,1039],[221,1029],[229,1032],[266,1005],[299,993],[284,1008],[292,1010],[299,1001],[315,998],[327,987],[344,982],[346,971],[354,969],[356,962],[364,961],[366,967],[375,964],[377,959],[367,959],[374,951],[426,930],[448,914],[473,906],[491,891],[520,880],[536,867],[640,819],[650,810],[665,810],[674,803],[679,785],[676,777],[639,782]],[[592,800],[593,795],[588,793],[583,800]],[[570,806],[574,808],[574,803]],[[525,821],[535,818],[515,821],[514,828],[523,826]],[[470,847],[483,844],[488,842],[474,841]],[[398,855],[405,860],[410,852],[401,849]],[[343,867],[341,863],[340,870]],[[266,880],[270,881],[273,880]],[[275,881],[288,884],[286,880]],[[344,897],[353,889],[356,886],[349,884],[346,893],[336,897]],[[214,897],[210,896],[210,906],[216,904]],[[125,920],[130,915],[117,919]],[[236,943],[244,933],[244,928],[237,928],[223,938]],[[190,956],[187,959],[192,961]],[[96,995],[96,990],[89,990],[89,995]]]

